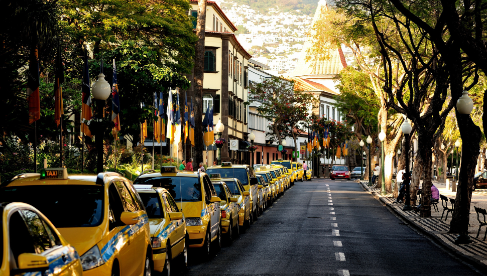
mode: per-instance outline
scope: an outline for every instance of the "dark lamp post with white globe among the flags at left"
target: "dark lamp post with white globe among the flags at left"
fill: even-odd
[[[105,107],[106,99],[110,96],[111,88],[110,84],[105,80],[105,75],[100,73],[98,79],[91,86],[91,93],[93,99],[96,102],[96,113],[98,119],[104,117],[103,108]],[[95,144],[96,144],[96,173],[103,172],[103,134],[105,133],[106,126],[99,124],[99,127],[95,130]]]

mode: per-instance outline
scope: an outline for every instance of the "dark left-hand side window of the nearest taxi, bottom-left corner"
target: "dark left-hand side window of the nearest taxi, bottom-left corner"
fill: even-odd
[[[36,247],[34,246],[34,239],[29,232],[29,228],[27,228],[23,216],[19,212],[14,212],[10,216],[9,240],[10,250],[16,264],[20,254],[37,253]]]

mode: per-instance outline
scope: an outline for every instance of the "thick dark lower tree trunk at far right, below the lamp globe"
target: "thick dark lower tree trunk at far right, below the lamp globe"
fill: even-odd
[[[475,165],[480,150],[480,128],[475,125],[470,115],[460,114],[456,110],[460,136],[462,139],[461,170],[458,176],[458,186],[455,197],[455,212],[450,222],[450,232],[458,233],[468,231],[468,221],[470,220],[470,203],[473,189],[473,175]]]

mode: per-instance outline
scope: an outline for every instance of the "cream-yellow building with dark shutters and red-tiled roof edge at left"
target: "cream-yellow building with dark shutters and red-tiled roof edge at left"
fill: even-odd
[[[198,1],[191,0],[190,15],[197,17]],[[196,28],[196,21],[193,21]],[[248,61],[252,56],[242,48],[233,34],[236,27],[213,1],[207,1],[205,28],[205,60],[203,79],[203,112],[213,105],[214,125],[221,119],[225,125],[222,138],[238,140],[238,150],[229,151],[229,146],[221,149],[221,159],[232,163],[247,164],[249,154],[246,149],[248,123]],[[189,75],[191,87],[187,90],[188,101],[194,94],[194,75]],[[184,91],[183,91],[184,93]],[[204,114],[203,114],[204,115]],[[216,130],[215,139],[217,138]],[[204,162],[211,165],[216,161],[216,147],[210,147],[208,159],[204,152]],[[191,157],[191,147],[186,146],[186,159]]]

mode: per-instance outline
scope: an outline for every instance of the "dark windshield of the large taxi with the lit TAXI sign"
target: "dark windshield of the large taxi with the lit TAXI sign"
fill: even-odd
[[[0,190],[0,202],[30,204],[56,228],[99,225],[103,220],[103,197],[100,185],[30,185]]]

